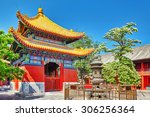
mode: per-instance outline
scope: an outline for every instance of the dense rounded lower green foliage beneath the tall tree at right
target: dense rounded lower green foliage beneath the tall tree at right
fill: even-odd
[[[129,62],[126,60],[125,62]],[[131,61],[131,64],[132,61]],[[110,83],[120,83],[126,85],[138,85],[140,78],[136,72],[134,65],[131,65],[132,68],[124,63],[120,62],[111,62],[103,65],[102,74],[104,79]]]

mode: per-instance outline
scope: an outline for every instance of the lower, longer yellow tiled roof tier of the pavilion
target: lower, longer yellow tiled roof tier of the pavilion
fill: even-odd
[[[49,51],[49,52],[56,52],[56,53],[62,53],[62,54],[68,54],[73,56],[86,56],[88,54],[91,54],[94,49],[73,49],[69,48],[67,46],[42,42],[39,40],[33,40],[30,38],[26,38],[22,36],[20,33],[16,32],[13,28],[10,28],[9,30],[13,36],[24,46],[28,48],[38,49],[42,51]]]

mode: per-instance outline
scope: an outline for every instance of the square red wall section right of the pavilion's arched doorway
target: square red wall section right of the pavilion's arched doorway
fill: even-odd
[[[64,68],[64,82],[77,82],[77,70]]]

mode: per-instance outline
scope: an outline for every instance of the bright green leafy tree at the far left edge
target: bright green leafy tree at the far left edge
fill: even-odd
[[[10,34],[5,34],[4,31],[0,31],[0,80],[5,81],[7,78],[10,80],[14,78],[21,79],[24,73],[19,67],[11,65],[11,61],[19,57],[10,50],[10,45],[14,41],[14,38]]]

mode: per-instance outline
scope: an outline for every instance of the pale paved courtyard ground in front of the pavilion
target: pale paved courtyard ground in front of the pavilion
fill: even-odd
[[[63,91],[46,92],[44,96],[29,96],[20,97],[15,94],[15,91],[10,90],[8,87],[0,87],[0,100],[64,100]],[[73,99],[83,99],[73,98]],[[150,100],[150,90],[138,90],[137,100]]]

